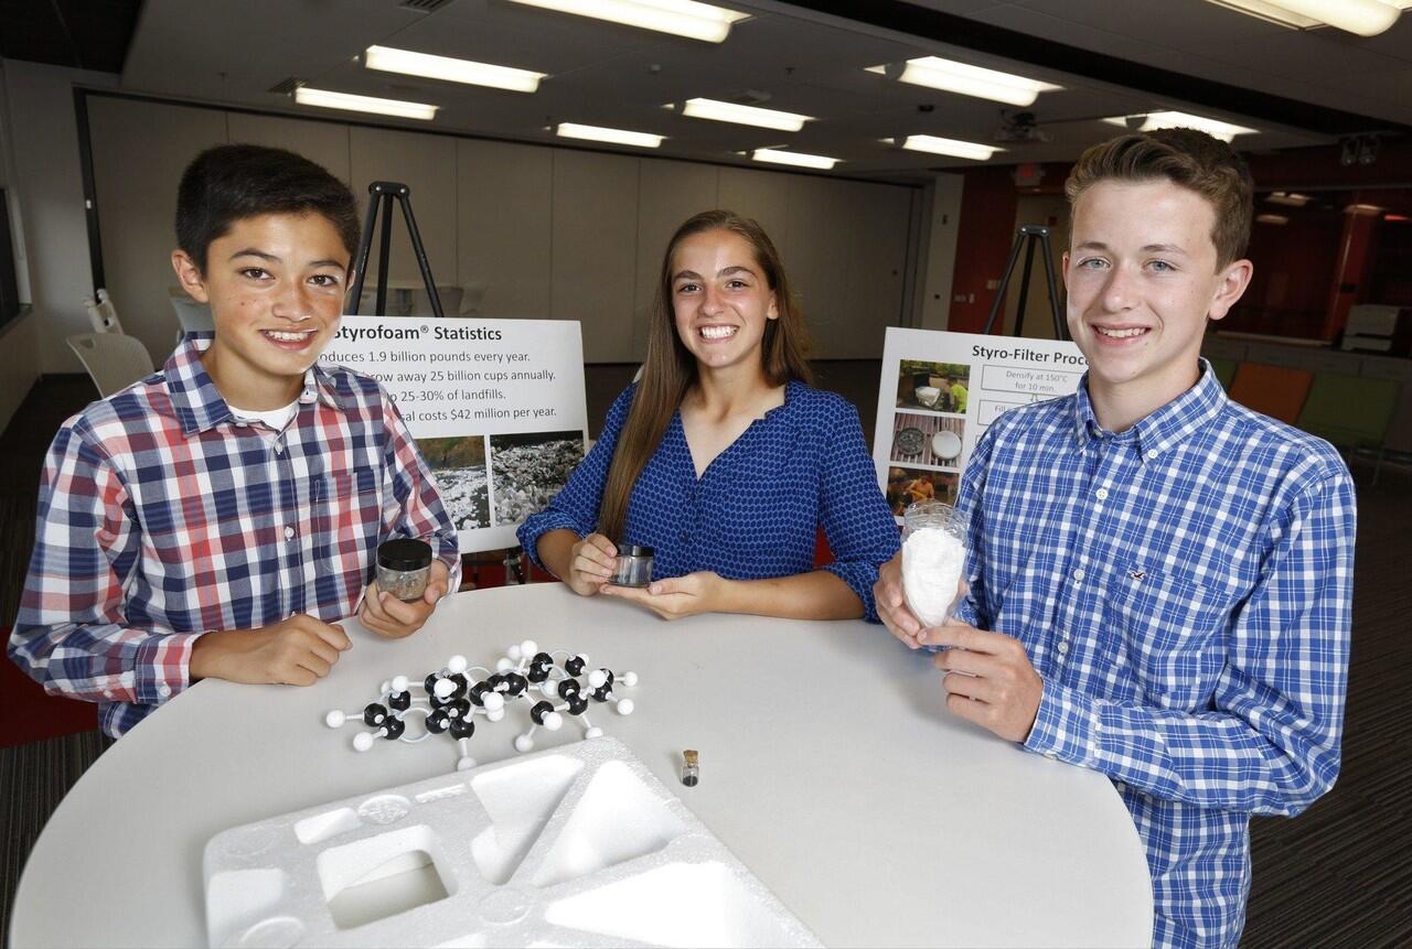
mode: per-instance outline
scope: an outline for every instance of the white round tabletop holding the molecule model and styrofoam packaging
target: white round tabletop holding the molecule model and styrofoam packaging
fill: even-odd
[[[311,688],[208,680],[109,749],[55,811],[16,894],[11,945],[201,946],[202,850],[216,833],[455,769],[449,736],[352,750],[397,674],[505,646],[634,670],[631,716],[594,725],[648,769],[830,946],[1139,946],[1147,863],[1096,771],[1025,753],[946,712],[929,656],[863,622],[693,616],[668,623],[561,584],[459,594],[417,636],[345,625],[353,649]],[[480,763],[520,723],[481,723]],[[569,722],[539,747],[578,740]],[[700,784],[682,787],[682,749]]]

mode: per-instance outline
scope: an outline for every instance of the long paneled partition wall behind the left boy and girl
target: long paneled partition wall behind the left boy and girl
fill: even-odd
[[[916,188],[112,96],[89,97],[89,116],[109,290],[158,362],[176,329],[167,298],[176,178],[199,148],[226,140],[308,154],[360,197],[370,180],[405,182],[438,283],[484,283],[481,317],[579,320],[587,362],[642,358],[666,240],[710,207],[771,234],[818,357],[880,357],[884,327],[912,303],[902,290]],[[404,233],[398,214],[395,281],[418,278]]]

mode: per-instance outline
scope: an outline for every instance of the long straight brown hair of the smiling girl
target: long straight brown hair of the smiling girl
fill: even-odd
[[[662,255],[657,300],[647,329],[647,362],[642,364],[642,378],[637,384],[633,408],[618,434],[607,484],[603,486],[603,501],[599,505],[599,532],[613,543],[623,539],[628,502],[638,475],[657,451],[672,415],[696,382],[696,357],[676,336],[672,312],[672,258],[688,237],[717,230],[746,238],[754,250],[755,265],[764,272],[765,282],[775,293],[778,319],[765,324],[760,347],[765,381],[771,386],[784,385],[791,379],[813,382],[813,372],[805,358],[809,341],[803,317],[789,292],[779,252],[764,228],[748,217],[726,210],[702,212],[678,227],[666,244],[666,254]]]

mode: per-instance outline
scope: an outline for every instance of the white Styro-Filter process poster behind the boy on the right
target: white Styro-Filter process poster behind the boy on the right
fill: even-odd
[[[892,513],[956,503],[976,440],[1001,412],[1069,395],[1087,361],[1073,343],[890,327],[873,461]]]

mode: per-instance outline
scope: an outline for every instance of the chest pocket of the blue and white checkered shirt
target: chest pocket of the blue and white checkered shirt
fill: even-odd
[[[1220,591],[1173,571],[1114,571],[1104,598],[1114,670],[1131,670],[1139,701],[1159,708],[1211,708],[1226,666],[1230,609]]]

